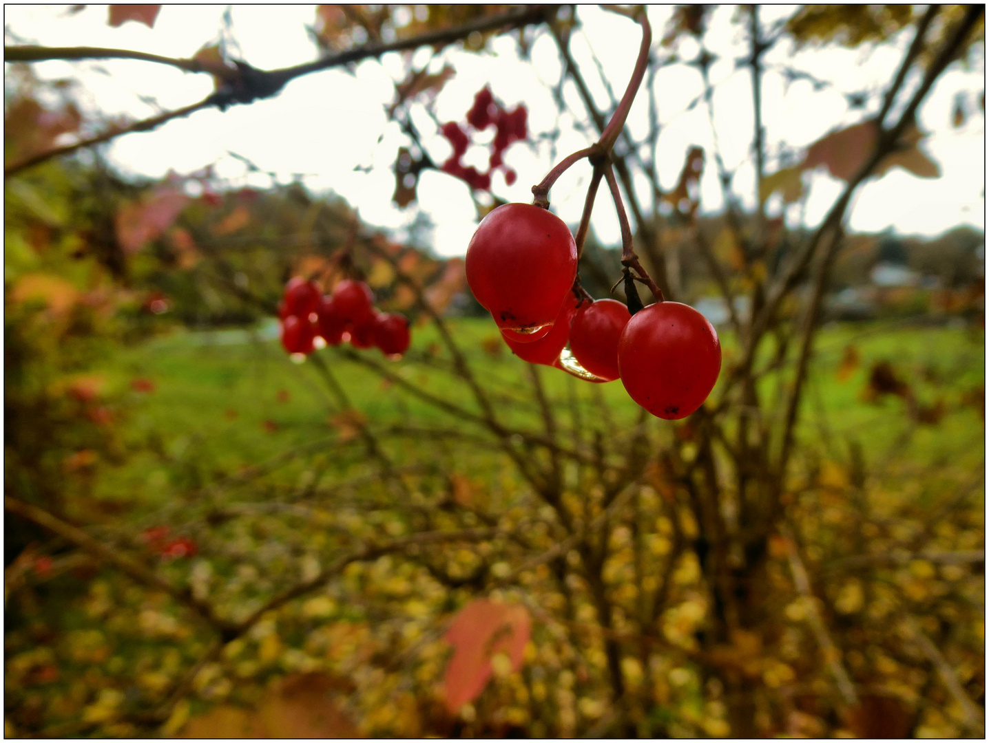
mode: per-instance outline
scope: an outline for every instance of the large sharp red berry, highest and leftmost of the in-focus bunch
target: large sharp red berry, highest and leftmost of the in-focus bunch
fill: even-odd
[[[556,319],[577,277],[563,220],[529,204],[493,209],[467,248],[467,283],[501,329],[533,332]]]

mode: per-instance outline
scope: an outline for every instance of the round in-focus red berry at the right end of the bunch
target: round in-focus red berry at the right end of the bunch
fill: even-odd
[[[618,341],[622,384],[633,400],[667,420],[699,408],[721,371],[721,345],[693,307],[665,301],[635,313]]]

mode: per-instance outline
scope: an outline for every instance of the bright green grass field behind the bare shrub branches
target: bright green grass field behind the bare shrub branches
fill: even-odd
[[[512,425],[536,425],[527,365],[494,343],[494,325],[487,320],[462,319],[452,322],[451,328],[479,380],[497,390],[493,400],[499,416]],[[129,408],[126,436],[142,453],[106,472],[101,485],[104,493],[126,498],[126,493],[137,490],[157,500],[155,495],[164,497],[177,484],[203,486],[296,449],[324,453],[327,478],[334,472],[342,475],[347,466],[359,461],[361,454],[356,450],[335,454],[338,433],[330,425],[331,397],[315,365],[292,363],[270,335],[270,329],[267,333],[182,331],[108,358],[101,372],[112,386],[129,388],[133,378],[147,377],[155,389],[143,394],[128,392],[125,397]],[[489,351],[483,347],[486,340],[493,341]],[[731,358],[733,345],[732,339],[724,339],[726,359]],[[842,380],[838,369],[849,345],[857,350],[859,363]],[[436,331],[431,326],[416,328],[410,357],[425,354],[430,347],[435,359],[448,361]],[[963,404],[963,395],[983,384],[982,330],[888,323],[836,325],[822,330],[816,348],[800,429],[805,447],[819,448],[824,456],[829,449],[834,450],[830,454],[841,455],[847,453],[849,441],[856,440],[867,461],[892,455],[974,467],[982,460],[983,421],[974,406]],[[478,409],[468,387],[447,371],[389,362],[376,350],[359,353],[439,398]],[[475,430],[398,385],[383,382],[374,371],[340,359],[333,350],[318,354],[353,405],[376,425],[443,428],[454,435]],[[882,360],[893,364],[923,404],[944,400],[944,416],[937,425],[911,425],[902,399],[887,396],[875,403],[862,399],[871,365]],[[605,413],[619,427],[637,415],[637,406],[618,381],[590,384],[548,368],[540,369],[540,378],[561,415],[570,415],[567,401],[576,396],[588,428],[599,427]],[[774,399],[777,382],[764,380],[761,392],[765,399]],[[518,408],[509,404],[512,396],[530,402]],[[454,446],[455,438],[446,444],[406,438],[390,449],[400,457],[404,452],[421,457],[428,454],[428,447]],[[157,454],[147,451],[148,442],[153,442]],[[426,449],[415,449],[420,446]],[[473,454],[465,454],[469,455]],[[304,471],[291,461],[282,469],[288,479]]]

